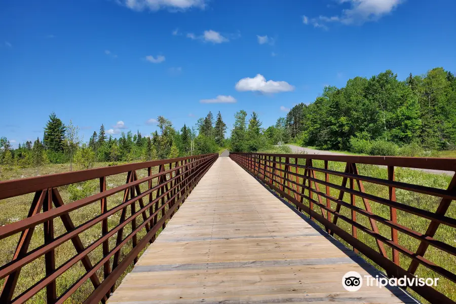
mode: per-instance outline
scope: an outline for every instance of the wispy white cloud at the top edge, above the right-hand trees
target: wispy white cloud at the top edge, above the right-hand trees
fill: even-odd
[[[314,27],[327,29],[325,25],[331,22],[340,22],[341,24],[363,24],[368,21],[376,21],[384,15],[391,13],[405,0],[339,0],[339,4],[350,3],[350,9],[344,9],[339,16],[319,16],[318,18],[307,19]]]

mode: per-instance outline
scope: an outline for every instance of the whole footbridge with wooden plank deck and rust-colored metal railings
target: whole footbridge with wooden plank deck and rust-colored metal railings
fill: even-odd
[[[0,302],[454,303],[453,269],[426,253],[456,256],[437,233],[454,236],[456,177],[446,189],[424,186],[396,181],[397,167],[456,171],[456,160],[235,153],[0,182],[2,203],[30,200],[27,216],[0,227],[9,254]],[[99,192],[64,203],[65,187],[86,181]],[[401,203],[396,189],[436,208]],[[426,231],[406,216],[426,220]],[[43,272],[35,281],[21,276],[30,265]],[[351,271],[365,278],[354,292],[343,286]],[[365,277],[423,274],[443,287],[407,284],[410,294]]]

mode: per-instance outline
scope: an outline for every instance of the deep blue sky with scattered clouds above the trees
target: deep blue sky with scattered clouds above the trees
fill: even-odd
[[[52,111],[85,140],[209,110],[230,127],[255,110],[266,127],[357,75],[456,72],[454,12],[454,0],[5,0],[0,136],[42,138]]]

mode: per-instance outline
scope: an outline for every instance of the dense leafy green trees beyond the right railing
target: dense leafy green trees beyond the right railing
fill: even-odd
[[[231,144],[234,150],[256,151],[258,145],[241,135],[250,129],[245,116],[244,111],[236,114]],[[270,144],[293,142],[371,155],[422,156],[454,149],[456,78],[441,67],[404,81],[391,70],[370,79],[355,77],[343,88],[325,87],[308,105],[293,106],[260,135]]]

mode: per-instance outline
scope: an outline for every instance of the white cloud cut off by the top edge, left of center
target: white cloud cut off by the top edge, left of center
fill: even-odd
[[[118,0],[118,3],[134,11],[158,11],[169,9],[171,11],[185,11],[191,8],[204,9],[206,0]]]

